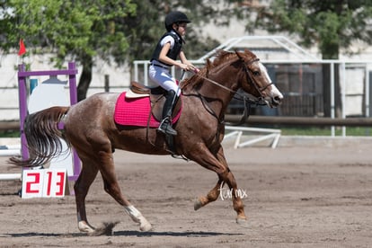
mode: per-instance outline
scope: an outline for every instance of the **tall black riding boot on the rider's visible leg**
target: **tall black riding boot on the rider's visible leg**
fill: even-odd
[[[175,104],[177,103],[178,96],[174,91],[169,91],[165,94],[165,103],[163,107],[163,120],[160,123],[159,131],[164,134],[177,135],[177,131],[172,128],[172,112]]]

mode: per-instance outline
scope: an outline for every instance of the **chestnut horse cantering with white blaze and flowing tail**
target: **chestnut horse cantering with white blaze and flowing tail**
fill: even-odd
[[[216,186],[195,200],[198,210],[215,201],[225,184],[232,192],[236,223],[248,226],[244,204],[235,176],[228,167],[221,142],[225,135],[225,112],[236,94],[249,95],[250,100],[278,107],[283,95],[271,82],[265,66],[250,50],[217,52],[213,60],[198,73],[182,81],[182,113],[173,128],[174,153],[217,173]],[[237,91],[240,90],[238,93]],[[248,93],[248,94],[246,94]],[[115,149],[147,155],[171,155],[166,136],[156,128],[122,126],[113,120],[115,104],[120,93],[97,93],[70,107],[56,106],[28,115],[24,132],[30,157],[13,157],[10,162],[22,166],[46,164],[63,151],[60,138],[75,148],[82,169],[75,182],[77,226],[81,232],[94,234],[97,228],[88,222],[85,197],[98,172],[103,188],[137,223],[141,231],[152,229],[151,224],[120,190],[116,178],[113,152]],[[146,113],[148,115],[148,113]],[[64,123],[64,129],[58,128]]]

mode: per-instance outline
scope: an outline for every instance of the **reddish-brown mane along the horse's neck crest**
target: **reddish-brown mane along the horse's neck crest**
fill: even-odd
[[[237,59],[242,59],[244,61],[250,61],[256,56],[248,49],[244,49],[244,52],[229,52],[226,50],[217,50],[214,55],[213,61],[210,61],[208,58],[206,61],[206,66],[200,69],[197,75],[192,75],[190,78],[187,78],[182,83],[182,89],[186,86],[194,88],[198,84],[204,81],[203,77],[208,77],[210,72],[213,72],[217,67],[224,66],[226,63],[231,63]]]

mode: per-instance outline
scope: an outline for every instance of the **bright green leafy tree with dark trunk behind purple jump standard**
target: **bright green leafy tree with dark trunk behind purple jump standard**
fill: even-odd
[[[0,8],[1,49],[14,49],[22,38],[33,53],[54,54],[57,66],[65,59],[79,62],[79,100],[92,80],[94,58],[120,62],[125,56],[128,40],[116,26],[136,11],[130,0],[3,0]]]

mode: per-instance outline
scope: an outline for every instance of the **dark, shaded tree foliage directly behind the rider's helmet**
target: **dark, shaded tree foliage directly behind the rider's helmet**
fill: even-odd
[[[217,40],[206,37],[202,27],[209,22],[217,26],[228,24],[229,19],[235,15],[234,4],[226,0],[137,0],[137,15],[122,19],[120,27],[128,33],[130,48],[128,49],[128,62],[136,59],[151,58],[156,42],[165,32],[165,15],[173,10],[179,10],[192,21],[186,34],[184,46],[188,58],[199,58],[210,49],[219,45]]]

